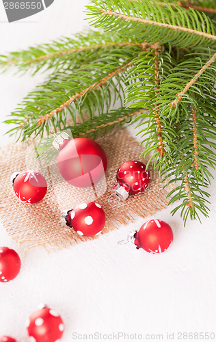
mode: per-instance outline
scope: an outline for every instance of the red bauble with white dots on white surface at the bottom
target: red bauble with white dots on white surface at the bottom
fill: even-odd
[[[36,342],[57,342],[63,335],[64,323],[55,311],[44,306],[29,317],[27,330]]]

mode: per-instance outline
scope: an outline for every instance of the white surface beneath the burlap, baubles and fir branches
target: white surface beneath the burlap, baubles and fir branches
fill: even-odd
[[[55,0],[40,14],[7,23],[0,1],[0,54],[87,28],[86,4],[87,0]],[[0,75],[1,122],[42,79],[39,74]],[[3,135],[8,127],[1,124],[0,129],[4,146],[10,140]],[[155,217],[174,229],[174,244],[161,255],[117,244],[129,231],[139,229],[142,218],[96,241],[51,254],[42,248],[24,254],[1,226],[0,246],[16,249],[22,269],[12,282],[0,283],[0,336],[25,341],[25,321],[40,302],[62,315],[66,326],[62,342],[72,341],[73,332],[164,333],[164,341],[166,332],[174,332],[178,341],[177,332],[216,330],[215,185],[213,181],[211,218],[202,218],[202,224],[188,222],[184,228],[178,214],[170,215],[170,208],[157,213]]]

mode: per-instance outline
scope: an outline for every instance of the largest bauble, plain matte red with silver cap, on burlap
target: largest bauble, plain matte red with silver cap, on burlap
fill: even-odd
[[[71,139],[62,132],[55,138],[53,146],[59,150],[59,172],[71,185],[91,187],[105,176],[107,157],[97,142],[81,137]]]

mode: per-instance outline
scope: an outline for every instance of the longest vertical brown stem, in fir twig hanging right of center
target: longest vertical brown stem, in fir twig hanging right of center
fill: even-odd
[[[156,102],[159,94],[159,57],[158,53],[159,50],[156,49],[154,51],[155,53],[155,60],[154,60],[154,90],[155,90],[155,96],[156,96]],[[157,122],[157,132],[158,132],[158,140],[159,140],[159,154],[164,155],[165,154],[165,148],[163,146],[163,137],[162,137],[162,131],[161,131],[161,122],[160,122],[160,116],[159,116],[159,108],[157,107],[157,103],[154,105],[156,109],[155,111],[155,117],[156,117],[156,122]]]

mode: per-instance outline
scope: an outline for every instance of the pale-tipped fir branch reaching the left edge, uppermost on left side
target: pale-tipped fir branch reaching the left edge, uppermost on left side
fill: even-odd
[[[77,34],[75,38],[62,38],[50,44],[40,44],[27,50],[12,52],[0,56],[0,67],[7,70],[16,67],[18,71],[30,70],[33,74],[42,68],[54,70],[66,69],[96,60],[101,51],[111,53],[111,49],[122,47],[142,47],[141,43],[129,42],[115,33],[103,34],[90,31],[89,34]]]

